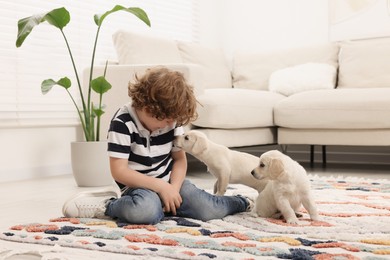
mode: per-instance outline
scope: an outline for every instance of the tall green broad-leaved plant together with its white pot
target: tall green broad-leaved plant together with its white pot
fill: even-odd
[[[43,22],[48,22],[50,25],[58,28],[65,40],[66,48],[72,61],[72,66],[77,81],[78,94],[81,98],[81,104],[79,105],[76,103],[75,98],[69,91],[69,88],[71,87],[72,83],[68,77],[63,77],[59,80],[46,79],[42,81],[41,91],[43,94],[47,94],[55,85],[63,87],[69,94],[69,97],[71,98],[77,110],[84,133],[84,138],[86,141],[73,142],[71,144],[72,169],[76,183],[79,186],[103,186],[112,183],[112,178],[108,166],[108,156],[106,153],[107,144],[106,142],[101,142],[99,140],[100,119],[104,113],[102,98],[103,94],[110,90],[111,84],[105,78],[107,71],[107,63],[103,76],[97,77],[95,79],[93,79],[93,68],[95,62],[96,46],[103,21],[108,15],[118,11],[125,11],[131,13],[137,18],[139,18],[141,21],[143,21],[146,25],[150,26],[150,21],[147,14],[144,10],[138,7],[125,8],[123,6],[116,5],[114,8],[103,14],[95,14],[93,18],[95,24],[97,25],[97,31],[95,41],[93,43],[91,67],[87,89],[83,89],[82,87],[80,76],[75,64],[75,59],[73,57],[69,42],[64,32],[64,28],[70,22],[70,14],[68,10],[66,10],[64,7],[61,7],[53,9],[46,13],[29,16],[18,21],[16,47],[22,46],[25,39],[27,38],[27,36],[30,35],[33,28]],[[99,98],[96,103],[92,101],[92,91],[98,94]],[[99,146],[101,148],[97,148],[96,146]],[[98,158],[99,155],[94,154],[94,152],[99,151],[100,156],[103,156],[104,158]],[[90,159],[91,161],[89,162],[88,159]],[[99,162],[103,162],[103,165],[99,166]],[[91,171],[90,173],[88,173],[89,170]]]

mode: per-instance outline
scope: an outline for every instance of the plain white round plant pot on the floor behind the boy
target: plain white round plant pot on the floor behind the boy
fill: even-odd
[[[71,159],[73,176],[79,187],[113,184],[106,141],[72,142]]]

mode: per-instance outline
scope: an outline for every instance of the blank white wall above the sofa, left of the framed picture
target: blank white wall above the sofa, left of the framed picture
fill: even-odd
[[[256,52],[328,42],[327,0],[201,1],[202,44]]]

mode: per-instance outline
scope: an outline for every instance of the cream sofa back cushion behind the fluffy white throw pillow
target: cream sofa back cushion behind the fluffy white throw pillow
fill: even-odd
[[[337,68],[338,51],[337,44],[326,44],[264,53],[238,52],[233,58],[233,85],[266,90],[274,71],[308,62],[328,63]]]

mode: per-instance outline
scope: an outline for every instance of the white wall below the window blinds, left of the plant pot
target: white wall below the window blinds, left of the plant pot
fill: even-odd
[[[71,174],[75,126],[0,129],[0,182]]]

